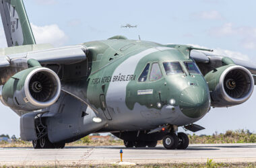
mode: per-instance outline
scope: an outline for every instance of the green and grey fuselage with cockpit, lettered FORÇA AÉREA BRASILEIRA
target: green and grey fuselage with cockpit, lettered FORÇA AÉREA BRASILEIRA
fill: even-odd
[[[64,89],[87,101],[106,120],[100,131],[184,126],[209,110],[207,83],[193,60],[179,50],[127,39],[84,45],[89,49],[90,75]]]

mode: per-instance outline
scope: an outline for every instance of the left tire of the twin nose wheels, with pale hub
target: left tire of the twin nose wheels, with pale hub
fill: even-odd
[[[162,139],[162,144],[166,149],[177,149],[179,145],[179,138],[174,133],[166,134]]]

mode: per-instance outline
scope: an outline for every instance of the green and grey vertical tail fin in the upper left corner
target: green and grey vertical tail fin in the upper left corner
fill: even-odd
[[[36,44],[22,0],[0,0],[0,11],[8,46]]]

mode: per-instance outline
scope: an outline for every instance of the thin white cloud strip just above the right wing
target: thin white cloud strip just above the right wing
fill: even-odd
[[[189,44],[189,45],[198,47],[198,48],[207,48],[205,46],[199,46],[197,44]],[[214,50],[214,52],[208,52],[210,54],[216,54],[216,55],[220,55],[220,56],[228,56],[230,58],[236,58],[238,60],[249,60],[249,56],[247,56],[246,54],[242,54],[241,52],[232,51],[232,50],[224,50],[222,48],[210,48],[210,49]],[[207,52],[207,51],[203,51],[203,52]]]

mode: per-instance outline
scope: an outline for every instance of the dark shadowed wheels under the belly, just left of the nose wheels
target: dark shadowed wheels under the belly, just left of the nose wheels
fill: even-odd
[[[135,146],[135,148],[143,148],[143,147],[156,147],[156,144],[158,143],[157,140],[123,140],[123,143],[125,144],[125,147],[127,148],[133,148],[133,146]]]

